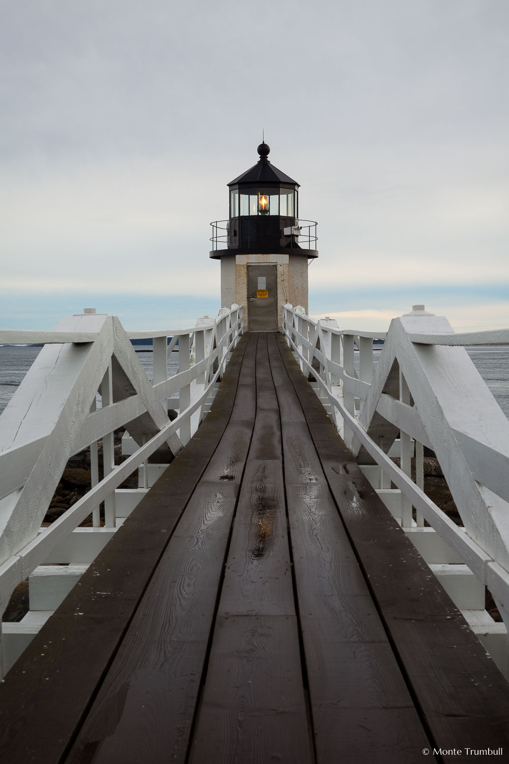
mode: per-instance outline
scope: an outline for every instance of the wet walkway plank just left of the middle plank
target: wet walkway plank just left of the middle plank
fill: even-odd
[[[256,342],[251,340],[248,360],[255,352]],[[152,727],[156,733],[149,759],[185,760],[240,474],[253,431],[253,420],[240,418],[254,396],[252,365],[247,363],[240,371],[240,390],[221,442],[166,547],[69,762],[143,761],[145,730]],[[114,727],[105,730],[104,717],[119,693],[122,713],[115,717]],[[92,745],[93,758],[87,759]]]

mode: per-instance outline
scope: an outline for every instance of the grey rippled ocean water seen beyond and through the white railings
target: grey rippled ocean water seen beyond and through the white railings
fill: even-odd
[[[0,413],[11,400],[24,375],[37,358],[39,351],[40,348],[31,348],[26,345],[0,345]],[[472,348],[467,348],[467,352],[501,410],[509,419],[509,345],[495,347],[474,345]],[[381,350],[375,349],[375,361],[378,361],[380,353]],[[152,379],[153,354],[151,352],[137,352],[137,358],[139,358],[149,379]],[[176,374],[178,367],[179,354],[171,353],[168,359],[170,377]],[[1,420],[0,426],[2,426]]]

